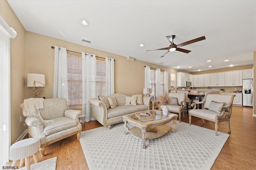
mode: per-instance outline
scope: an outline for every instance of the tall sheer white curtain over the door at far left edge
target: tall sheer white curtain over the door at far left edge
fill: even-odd
[[[10,136],[10,38],[16,31],[0,16],[0,167],[9,162]],[[14,129],[15,130],[15,129]],[[0,168],[0,169],[1,169]]]

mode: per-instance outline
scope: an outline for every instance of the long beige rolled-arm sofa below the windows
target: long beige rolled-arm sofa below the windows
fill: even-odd
[[[137,96],[137,104],[126,106],[126,97],[132,97],[124,94],[112,94],[116,100],[117,107],[110,108],[107,97],[101,96],[103,98],[90,98],[89,103],[92,104],[93,117],[100,122],[103,126],[111,127],[115,123],[123,121],[122,115],[129,113],[134,113],[136,111],[144,111],[150,109],[150,102],[152,98],[150,96],[143,96],[142,94],[132,95]]]

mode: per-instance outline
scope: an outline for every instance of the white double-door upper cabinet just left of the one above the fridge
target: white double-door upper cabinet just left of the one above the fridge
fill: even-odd
[[[242,70],[225,72],[225,86],[242,86]]]

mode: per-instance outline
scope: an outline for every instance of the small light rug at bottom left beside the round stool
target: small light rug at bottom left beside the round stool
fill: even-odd
[[[56,170],[57,157],[43,160],[30,165],[30,170]],[[25,170],[26,168],[20,168],[19,170]]]

